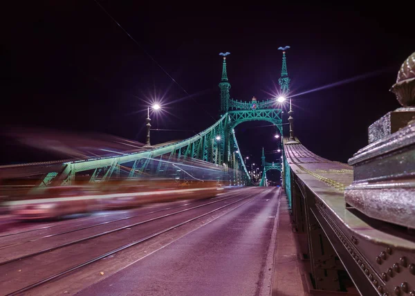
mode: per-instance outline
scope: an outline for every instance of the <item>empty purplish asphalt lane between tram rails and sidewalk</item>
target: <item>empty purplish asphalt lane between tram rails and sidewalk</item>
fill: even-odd
[[[280,188],[257,197],[76,295],[270,295]]]

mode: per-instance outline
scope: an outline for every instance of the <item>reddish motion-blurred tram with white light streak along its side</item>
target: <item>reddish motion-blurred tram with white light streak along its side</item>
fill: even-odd
[[[210,198],[223,192],[217,181],[177,183],[172,179],[107,181],[87,185],[46,187],[7,206],[19,220],[56,219],[69,214],[127,209],[147,203]]]

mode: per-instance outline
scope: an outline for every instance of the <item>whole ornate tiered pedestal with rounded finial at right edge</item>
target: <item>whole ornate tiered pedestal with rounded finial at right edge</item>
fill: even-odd
[[[369,145],[349,159],[353,183],[344,198],[373,219],[415,228],[415,53],[390,91],[402,107],[369,126]]]

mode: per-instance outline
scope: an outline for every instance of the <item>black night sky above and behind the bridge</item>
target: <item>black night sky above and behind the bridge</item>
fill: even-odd
[[[219,118],[220,52],[231,53],[231,97],[264,100],[281,71],[277,48],[288,45],[293,95],[358,78],[293,98],[299,140],[324,158],[347,162],[367,145],[369,124],[399,107],[389,88],[415,50],[409,8],[389,3],[99,2],[138,44],[94,0],[15,1],[3,10],[3,127],[145,142],[147,102],[163,98],[165,112],[151,116],[153,127],[181,131],[153,131],[152,144],[188,138]],[[241,151],[255,162],[261,147],[277,147],[275,129],[259,127],[267,124],[236,128]],[[8,148],[1,163],[47,160]]]

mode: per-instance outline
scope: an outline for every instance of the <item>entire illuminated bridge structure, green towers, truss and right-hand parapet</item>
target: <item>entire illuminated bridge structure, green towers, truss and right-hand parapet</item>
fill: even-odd
[[[308,292],[342,295],[351,281],[361,295],[415,295],[415,53],[404,62],[391,89],[403,107],[371,124],[369,145],[349,164],[327,160],[304,147],[294,135],[291,108],[289,134],[284,135],[281,105],[275,100],[230,98],[228,53],[221,55],[221,117],[196,136],[152,146],[147,118],[147,143],[140,151],[4,166],[0,178],[42,176],[37,187],[71,185],[78,178],[94,183],[140,176],[185,183],[199,179],[189,163],[195,167],[209,163],[210,178],[218,184],[248,187],[251,177],[234,127],[267,121],[283,138],[283,157],[280,163],[268,163],[263,152],[259,185],[269,190],[266,173],[281,172]],[[282,101],[290,95],[285,51],[279,84]]]

